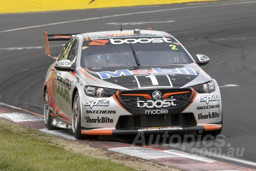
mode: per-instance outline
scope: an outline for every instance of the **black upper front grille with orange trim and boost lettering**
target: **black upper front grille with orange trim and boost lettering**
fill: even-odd
[[[166,92],[163,92],[162,94],[165,94],[165,93]],[[123,102],[125,103],[125,105],[128,106],[129,108],[141,109],[143,108],[143,106],[147,105],[147,106],[151,106],[150,108],[152,109],[159,109],[159,108],[167,108],[167,107],[176,108],[178,106],[185,104],[188,101],[188,98],[191,92],[186,91],[184,93],[183,92],[175,92],[175,93],[168,96],[167,98],[161,98],[158,101],[154,100],[153,98],[151,99],[148,98],[148,97],[152,97],[151,92],[147,94],[131,93],[131,95],[127,93],[121,93],[120,96]],[[147,108],[147,107],[145,106],[144,108]]]

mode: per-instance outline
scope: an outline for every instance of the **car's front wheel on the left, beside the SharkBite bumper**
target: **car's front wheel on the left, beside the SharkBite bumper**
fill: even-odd
[[[81,110],[80,98],[76,92],[72,110],[72,132],[76,139],[97,139],[98,136],[81,134]]]

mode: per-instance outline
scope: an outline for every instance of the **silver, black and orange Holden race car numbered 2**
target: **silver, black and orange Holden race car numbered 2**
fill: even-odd
[[[44,82],[47,129],[98,135],[222,130],[218,83],[172,35],[153,30],[45,34],[55,61]],[[58,57],[50,40],[68,41]]]

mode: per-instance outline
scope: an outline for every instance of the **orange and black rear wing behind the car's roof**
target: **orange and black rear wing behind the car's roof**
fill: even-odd
[[[49,41],[68,41],[70,40],[73,36],[79,33],[74,33],[74,34],[47,34],[47,32],[44,32],[45,35],[45,52],[48,56],[50,56],[53,59],[57,59],[57,57],[54,57],[50,54],[50,49],[49,49]]]

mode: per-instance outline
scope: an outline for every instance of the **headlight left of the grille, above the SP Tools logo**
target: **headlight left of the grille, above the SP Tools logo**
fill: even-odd
[[[116,90],[100,88],[100,87],[92,87],[92,86],[84,86],[84,93],[90,97],[111,97]]]

